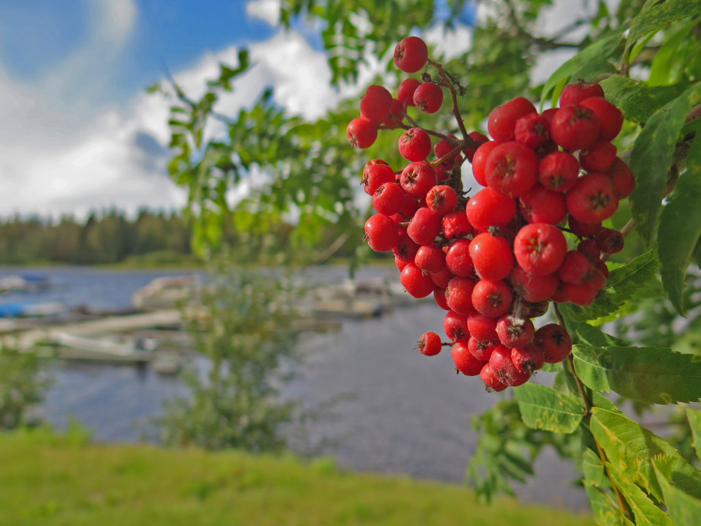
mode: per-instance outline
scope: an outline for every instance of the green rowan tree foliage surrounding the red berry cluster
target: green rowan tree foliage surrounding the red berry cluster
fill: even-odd
[[[287,27],[305,21],[322,27],[336,85],[357,80],[363,62],[375,56],[388,65],[376,83],[396,87],[403,74],[390,67],[395,43],[470,26],[469,48],[441,55],[443,48],[429,46],[430,57],[456,80],[456,108],[469,131],[484,131],[491,109],[513,97],[549,107],[566,83],[601,84],[625,116],[615,146],[636,179],[605,222],[627,235],[626,248],[611,258],[611,276],[592,304],[560,309],[558,322],[574,346],[568,359],[547,369],[552,386],[524,384],[472,418],[482,436],[467,478],[487,498],[510,492],[550,445],[580,470],[597,523],[697,524],[701,1],[592,0],[581,4],[578,20],[545,27],[553,3],[305,0],[283,1],[280,14]],[[545,60],[558,65],[540,82],[536,72]],[[325,249],[315,245],[321,225],[351,229],[365,219],[353,204],[362,166],[373,158],[401,166],[397,138],[404,130],[380,130],[363,151],[349,147],[346,125],[358,116],[360,96],[314,122],[287,114],[269,90],[236,116],[217,114],[217,98],[236,89],[248,68],[241,50],[238,64],[222,65],[199,100],[173,86],[170,170],[189,190],[196,245],[215,249],[228,221],[264,231],[269,218],[295,211],[294,236],[318,255]],[[224,123],[225,133],[210,139],[203,130],[211,119]],[[421,119],[425,128],[461,131],[450,112]],[[270,182],[231,206],[227,192],[257,170]],[[469,181],[467,165],[463,180]],[[657,405],[665,410],[655,431],[665,438],[641,424]]]

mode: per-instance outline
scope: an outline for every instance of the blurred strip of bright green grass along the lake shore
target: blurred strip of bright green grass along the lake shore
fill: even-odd
[[[456,485],[343,472],[331,459],[79,444],[0,434],[0,525],[593,524],[512,500],[486,506]]]

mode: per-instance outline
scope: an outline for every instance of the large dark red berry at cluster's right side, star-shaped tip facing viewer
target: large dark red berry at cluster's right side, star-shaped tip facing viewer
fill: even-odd
[[[577,180],[567,192],[567,210],[583,223],[598,223],[611,217],[618,208],[618,198],[611,177],[590,172]]]

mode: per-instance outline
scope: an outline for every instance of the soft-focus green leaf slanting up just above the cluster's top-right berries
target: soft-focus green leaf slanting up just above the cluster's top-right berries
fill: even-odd
[[[543,86],[543,92],[540,93],[541,104],[545,102],[550,91],[558,85],[559,89],[562,90],[562,86],[564,86],[563,81],[568,81],[573,76],[575,79],[581,76],[585,80],[592,80],[597,74],[610,71],[608,58],[613,53],[613,50],[618,47],[625,29],[627,29],[627,25],[615,29],[606,36],[602,36],[557,68],[550,76],[550,79],[547,79],[545,86]],[[559,96],[557,91],[555,90],[552,94],[553,98]]]

